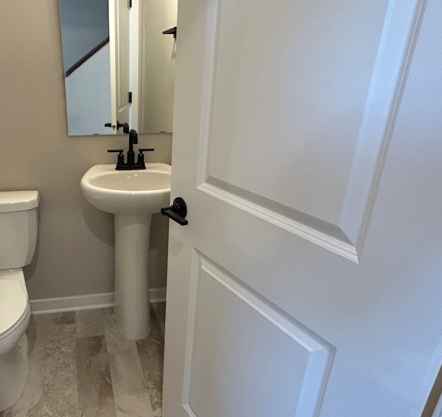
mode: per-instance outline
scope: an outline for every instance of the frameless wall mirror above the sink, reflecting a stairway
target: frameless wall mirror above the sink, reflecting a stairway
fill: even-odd
[[[69,136],[171,132],[177,0],[59,1]]]

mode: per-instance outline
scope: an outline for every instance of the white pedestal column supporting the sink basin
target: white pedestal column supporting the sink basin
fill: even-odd
[[[152,214],[115,214],[115,322],[128,339],[151,331],[148,249]]]

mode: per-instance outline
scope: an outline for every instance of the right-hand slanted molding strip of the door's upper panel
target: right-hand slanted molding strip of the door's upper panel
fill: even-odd
[[[427,0],[390,0],[340,227],[361,256]]]

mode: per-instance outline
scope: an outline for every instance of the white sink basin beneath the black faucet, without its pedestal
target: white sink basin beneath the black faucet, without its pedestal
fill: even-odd
[[[107,213],[157,213],[169,205],[171,166],[146,163],[146,169],[116,171],[115,165],[95,165],[81,178],[90,204]]]

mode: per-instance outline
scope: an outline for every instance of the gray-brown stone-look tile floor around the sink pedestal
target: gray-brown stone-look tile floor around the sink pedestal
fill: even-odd
[[[143,340],[119,333],[111,309],[32,316],[29,374],[0,417],[161,417],[164,304]]]

